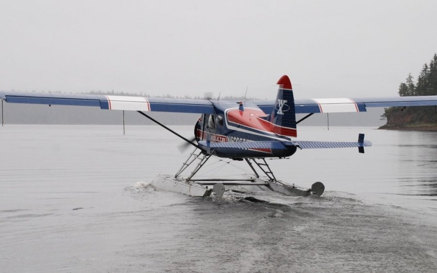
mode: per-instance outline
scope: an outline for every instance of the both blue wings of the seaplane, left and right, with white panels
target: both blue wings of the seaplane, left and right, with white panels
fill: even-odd
[[[157,98],[141,96],[104,96],[61,93],[2,92],[0,98],[11,103],[94,106],[109,110],[214,113],[207,99]],[[274,100],[252,100],[263,112],[270,113]],[[296,113],[366,112],[368,107],[437,105],[437,96],[394,96],[368,98],[296,99]]]

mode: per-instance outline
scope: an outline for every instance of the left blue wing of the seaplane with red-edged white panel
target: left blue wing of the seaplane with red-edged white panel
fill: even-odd
[[[0,99],[11,103],[91,106],[107,110],[214,113],[214,106],[207,99],[4,91],[0,91]]]

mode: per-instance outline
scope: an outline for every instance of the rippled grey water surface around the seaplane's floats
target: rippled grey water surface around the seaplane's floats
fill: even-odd
[[[189,137],[192,127],[173,127]],[[269,161],[321,197],[156,192],[181,142],[153,126],[0,128],[2,272],[434,272],[437,133],[300,128],[300,139],[373,142]],[[210,162],[203,175],[248,171]],[[253,196],[266,203],[252,203]]]

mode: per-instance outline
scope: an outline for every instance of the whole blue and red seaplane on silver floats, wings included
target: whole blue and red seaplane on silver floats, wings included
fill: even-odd
[[[251,190],[270,190],[291,196],[320,196],[324,185],[315,182],[311,188],[277,179],[266,159],[286,159],[298,150],[319,148],[358,148],[371,142],[358,135],[356,142],[326,142],[297,140],[297,124],[316,113],[366,112],[369,107],[435,106],[437,96],[394,96],[365,98],[294,99],[288,76],[278,81],[274,100],[212,100],[157,98],[142,96],[72,95],[58,93],[2,92],[0,99],[7,103],[45,105],[76,105],[100,107],[102,110],[136,111],[192,145],[182,167],[174,175],[158,175],[151,185],[156,190],[185,193],[192,196],[221,197],[225,186],[242,186]],[[3,108],[2,108],[3,109]],[[185,138],[152,118],[148,112],[198,113],[192,139]],[[306,114],[296,120],[296,114]],[[197,178],[196,174],[211,158],[245,161],[252,174],[240,178]]]

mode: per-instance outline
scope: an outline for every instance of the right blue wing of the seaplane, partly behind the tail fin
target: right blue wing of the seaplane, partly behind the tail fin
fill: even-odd
[[[252,100],[262,111],[270,113],[274,100]],[[296,113],[366,112],[368,107],[432,106],[437,96],[393,96],[364,98],[312,98],[295,99]]]

